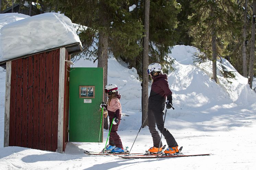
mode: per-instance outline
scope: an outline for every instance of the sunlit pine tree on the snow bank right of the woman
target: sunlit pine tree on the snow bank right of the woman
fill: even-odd
[[[217,57],[229,55],[229,42],[237,34],[237,5],[233,0],[193,0],[191,6],[195,12],[189,16],[189,34],[194,38],[193,45],[203,53],[201,57],[211,59],[212,79],[217,82]],[[224,77],[234,78],[222,68]]]

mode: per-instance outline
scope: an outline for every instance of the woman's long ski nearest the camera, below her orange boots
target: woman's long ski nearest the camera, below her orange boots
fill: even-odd
[[[210,154],[196,154],[196,155],[136,155],[136,156],[129,156],[129,155],[117,155],[119,158],[123,159],[150,159],[150,158],[174,158],[174,157],[188,157],[188,156],[207,156]]]

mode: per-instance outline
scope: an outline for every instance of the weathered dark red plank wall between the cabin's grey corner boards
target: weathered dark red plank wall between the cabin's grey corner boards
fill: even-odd
[[[56,151],[59,55],[57,49],[12,61],[9,146]]]

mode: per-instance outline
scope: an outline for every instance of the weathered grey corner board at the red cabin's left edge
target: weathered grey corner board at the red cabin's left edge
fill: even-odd
[[[11,74],[12,74],[12,62],[9,61],[6,63],[6,78],[5,78],[4,144],[3,144],[4,147],[9,146]]]

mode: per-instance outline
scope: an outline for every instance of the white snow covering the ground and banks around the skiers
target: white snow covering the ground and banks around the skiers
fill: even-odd
[[[224,59],[226,69],[235,71],[236,80],[227,83],[218,71],[218,84],[212,81],[211,62],[193,64],[196,52],[194,47],[177,45],[169,54],[176,60],[173,65],[176,70],[168,74],[175,110],[167,110],[165,126],[178,145],[183,146],[184,154],[211,153],[210,156],[156,160],[84,155],[84,150],[104,148],[108,130],[104,130],[103,143],[68,143],[63,154],[3,147],[5,70],[0,67],[0,170],[254,170],[256,93],[249,88],[247,79]],[[74,67],[97,67],[97,62],[81,59]],[[118,134],[123,145],[131,147],[142,121],[137,70],[109,58],[108,83],[117,84],[121,94],[123,115]],[[256,80],[253,86],[256,87]],[[140,131],[131,153],[144,152],[151,146],[151,134],[146,127]]]

